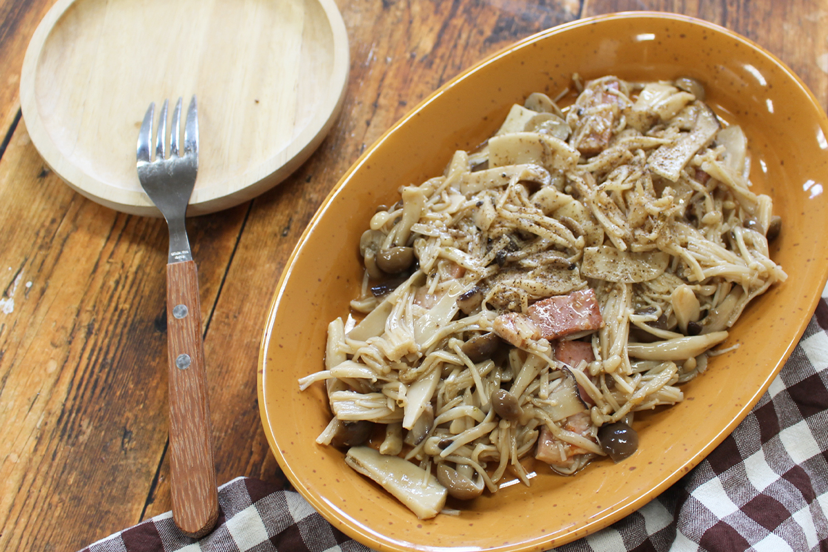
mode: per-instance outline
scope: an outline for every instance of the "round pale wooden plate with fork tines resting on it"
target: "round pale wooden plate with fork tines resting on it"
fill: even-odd
[[[160,216],[138,183],[138,128],[154,101],[199,101],[188,215],[278,184],[333,124],[349,72],[333,0],[59,0],[32,36],[20,84],[37,151],[89,199]]]

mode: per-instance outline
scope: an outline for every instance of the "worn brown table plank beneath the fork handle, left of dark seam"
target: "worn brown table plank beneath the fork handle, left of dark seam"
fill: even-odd
[[[245,213],[190,223],[205,305]],[[0,549],[79,549],[140,520],[166,445],[166,224],[75,194],[25,122],[0,218]]]

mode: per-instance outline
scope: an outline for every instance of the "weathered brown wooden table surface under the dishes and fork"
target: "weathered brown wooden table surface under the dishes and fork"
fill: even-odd
[[[44,165],[21,117],[26,46],[54,0],[0,1],[0,550],[78,550],[171,508],[162,220],[121,214]],[[828,100],[820,0],[338,0],[342,114],[277,188],[191,218],[219,483],[286,485],[259,420],[258,348],[291,250],[363,149],[503,46],[580,17],[682,12],[777,55]]]

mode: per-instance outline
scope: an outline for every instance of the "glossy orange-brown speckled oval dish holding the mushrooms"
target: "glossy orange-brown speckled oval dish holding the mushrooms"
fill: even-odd
[[[720,115],[743,125],[755,188],[773,196],[782,234],[772,256],[789,278],[744,312],[686,401],[636,416],[638,453],[602,459],[574,477],[538,470],[471,502],[459,516],[419,521],[314,439],[329,420],[322,385],[296,378],[323,367],[326,325],[347,315],[362,276],[359,236],[397,188],[440,175],[455,148],[474,148],[527,94],[556,95],[585,79],[675,79],[706,84]],[[749,412],[811,317],[828,274],[828,120],[773,55],[710,23],[667,14],[598,17],[532,36],[460,74],[375,143],[344,175],[291,257],[267,319],[259,405],[267,438],[296,489],[339,529],[378,550],[546,550],[644,506],[699,463]],[[389,203],[390,202],[390,203]],[[542,472],[542,473],[541,473]]]

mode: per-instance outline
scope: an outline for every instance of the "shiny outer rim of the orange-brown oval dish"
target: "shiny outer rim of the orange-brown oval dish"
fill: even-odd
[[[428,104],[436,101],[437,98],[440,98],[442,94],[445,94],[445,92],[451,89],[453,86],[455,86],[455,84],[459,83],[464,79],[467,79],[471,74],[474,74],[480,70],[484,70],[484,68],[487,65],[493,63],[495,60],[499,60],[505,55],[509,55],[514,50],[525,48],[527,46],[532,45],[532,43],[534,42],[545,40],[549,36],[558,35],[580,26],[590,26],[598,22],[642,18],[651,18],[667,22],[689,22],[697,26],[706,27],[710,29],[710,31],[715,31],[716,33],[722,33],[724,35],[727,35],[735,41],[739,41],[745,46],[749,46],[750,49],[756,50],[761,55],[766,56],[768,60],[772,61],[773,64],[777,65],[777,68],[779,70],[782,70],[783,74],[785,74],[787,78],[791,79],[792,82],[796,83],[799,89],[801,89],[802,94],[806,98],[808,98],[809,102],[811,103],[811,107],[814,109],[814,113],[819,113],[819,127],[821,127],[822,131],[826,135],[828,135],[828,118],[826,118],[826,114],[821,108],[821,105],[817,102],[816,98],[811,93],[810,89],[808,89],[806,84],[802,82],[802,79],[800,79],[797,76],[797,74],[790,70],[787,67],[787,65],[785,65],[781,60],[779,60],[777,56],[768,52],[768,50],[765,50],[762,46],[758,46],[758,44],[754,43],[753,41],[750,41],[748,38],[741,36],[734,31],[729,31],[728,29],[716,25],[714,23],[706,22],[696,17],[683,16],[675,13],[649,11],[617,12],[595,17],[588,17],[575,22],[569,22],[561,26],[552,27],[551,29],[537,33],[536,35],[529,36],[526,39],[523,39],[522,41],[517,41],[513,45],[498,51],[497,53],[480,61],[478,64],[470,67],[468,70],[465,70],[462,73],[455,76],[454,79],[451,79],[449,82],[442,85],[440,89],[437,89],[433,94],[421,101],[421,103],[419,103],[415,108],[413,108],[411,112],[407,113],[405,117],[403,117],[400,121],[398,121],[391,128],[389,128],[387,132],[383,133],[383,136],[379,137],[378,140],[374,142],[372,146],[370,146],[366,151],[364,151],[363,155],[360,156],[359,159],[354,162],[354,165],[351,166],[349,170],[344,174],[342,179],[339,180],[339,183],[335,185],[333,190],[331,190],[330,194],[321,204],[320,209],[318,209],[314,217],[311,218],[310,223],[306,227],[304,233],[302,233],[299,242],[296,244],[296,247],[291,253],[291,257],[288,259],[286,263],[286,268],[282,272],[282,276],[277,286],[277,292],[274,294],[272,306],[267,316],[267,324],[262,335],[262,346],[259,351],[258,360],[259,411],[262,416],[262,424],[264,426],[265,434],[267,436],[267,440],[271,446],[273,454],[276,456],[277,461],[282,467],[282,470],[286,474],[287,478],[296,487],[296,489],[299,490],[299,492],[301,492],[302,496],[305,497],[306,500],[310,502],[310,504],[314,506],[315,509],[319,511],[320,514],[324,516],[326,520],[330,521],[332,525],[336,526],[337,528],[339,528],[339,530],[342,530],[345,534],[351,536],[355,540],[359,540],[363,544],[372,546],[377,550],[383,550],[383,552],[398,552],[399,550],[427,550],[430,552],[445,552],[447,550],[498,550],[502,552],[517,552],[528,550],[545,550],[550,545],[552,545],[552,541],[549,538],[540,535],[532,540],[517,543],[517,545],[498,546],[493,547],[491,549],[481,549],[478,547],[464,547],[460,545],[460,543],[459,546],[453,548],[433,546],[401,547],[397,542],[389,541],[388,539],[384,538],[383,535],[379,535],[378,533],[374,532],[373,530],[370,530],[369,528],[366,528],[360,524],[352,523],[349,519],[346,519],[347,516],[343,517],[341,515],[341,512],[337,511],[335,508],[332,508],[327,502],[325,502],[325,499],[323,497],[317,496],[311,492],[307,492],[306,488],[302,484],[299,475],[293,471],[293,468],[288,463],[286,463],[285,459],[282,457],[282,454],[280,453],[276,438],[272,433],[272,428],[270,427],[268,421],[269,418],[267,412],[267,401],[264,395],[264,379],[265,370],[267,369],[268,343],[270,343],[272,339],[272,329],[276,318],[277,310],[283,298],[286,281],[288,281],[291,278],[292,268],[295,264],[296,257],[301,255],[302,249],[305,246],[310,233],[313,231],[316,223],[318,223],[320,218],[325,216],[325,213],[327,209],[329,209],[333,199],[335,199],[339,194],[340,190],[342,190],[344,186],[346,186],[349,183],[349,181],[354,176],[354,173],[360,170],[366,163],[366,161],[370,159],[373,152],[381,146],[383,146],[383,143],[386,142],[388,138],[391,137],[395,132],[397,132],[398,128],[405,125],[412,118],[415,118],[417,114],[421,112],[422,109],[426,108]],[[567,542],[570,542],[571,540],[575,540],[578,538],[582,538],[586,535],[590,535],[597,530],[601,530],[604,527],[611,525],[615,521],[619,521],[619,519],[623,518],[624,516],[627,516],[633,511],[638,510],[640,507],[647,504],[647,502],[652,501],[653,498],[661,494],[664,490],[667,489],[667,487],[672,485],[672,483],[676,482],[691,468],[694,468],[698,463],[700,463],[701,460],[703,460],[708,454],[710,454],[710,452],[713,449],[715,449],[729,434],[731,434],[735,427],[739,425],[739,423],[742,420],[744,420],[744,417],[746,415],[748,415],[749,411],[753,408],[753,406],[755,406],[755,404],[759,401],[761,396],[763,396],[763,393],[768,390],[768,386],[770,386],[771,382],[773,382],[773,379],[777,377],[778,373],[782,369],[782,366],[787,361],[787,358],[790,357],[793,349],[796,347],[799,339],[802,337],[802,334],[806,329],[807,324],[810,321],[811,314],[816,309],[816,304],[820,299],[819,291],[822,290],[822,286],[825,285],[826,279],[828,279],[828,262],[823,262],[823,266],[821,269],[821,281],[818,282],[819,286],[817,286],[816,283],[814,285],[814,289],[816,291],[815,293],[811,294],[811,300],[806,304],[806,314],[803,314],[802,318],[797,320],[797,324],[795,325],[794,331],[795,337],[789,340],[788,343],[785,345],[784,353],[780,358],[778,358],[775,366],[773,367],[773,371],[768,372],[768,377],[765,378],[762,385],[756,389],[753,395],[749,397],[749,400],[744,403],[744,406],[742,406],[742,408],[738,410],[738,413],[734,415],[734,418],[730,420],[728,424],[724,425],[722,430],[720,430],[720,432],[717,433],[713,439],[710,439],[709,442],[705,444],[705,446],[702,449],[700,449],[698,453],[693,454],[691,455],[691,457],[687,458],[686,462],[682,463],[678,468],[673,470],[672,473],[666,473],[664,477],[662,477],[660,480],[654,481],[652,484],[652,488],[649,492],[643,493],[638,497],[634,497],[632,500],[629,500],[622,507],[619,507],[614,511],[609,511],[605,515],[595,516],[594,518],[592,518],[592,521],[586,523],[583,526],[575,528],[565,536],[556,536],[556,538],[554,539],[554,545],[563,545]]]

